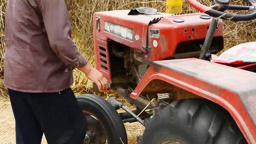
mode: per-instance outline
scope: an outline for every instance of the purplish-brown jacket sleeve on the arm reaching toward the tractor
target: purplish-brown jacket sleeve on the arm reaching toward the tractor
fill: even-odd
[[[72,27],[65,0],[38,0],[37,4],[52,51],[69,70],[86,65],[88,60],[71,39]]]

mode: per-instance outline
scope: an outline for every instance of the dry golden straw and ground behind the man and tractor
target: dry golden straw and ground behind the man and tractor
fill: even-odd
[[[203,4],[211,5],[210,0],[200,0]],[[6,88],[3,86],[4,78],[4,15],[7,0],[0,0],[0,144],[15,144],[15,121],[12,116]],[[232,1],[233,4],[243,4],[241,0]],[[67,6],[72,21],[72,39],[80,52],[86,56],[90,64],[94,65],[92,15],[98,11],[117,9],[131,9],[136,7],[157,8],[165,11],[166,0],[67,0]],[[183,13],[197,12],[184,1]],[[245,12],[240,12],[245,13]],[[237,44],[256,41],[256,20],[249,22],[231,22],[224,20],[225,50]],[[92,93],[92,83],[83,73],[75,70],[75,83],[72,89],[76,95]],[[115,96],[111,91],[98,94],[107,98]],[[129,107],[132,107],[119,97]],[[130,144],[136,143],[136,136],[142,134],[140,124],[125,124]],[[46,144],[45,140],[43,143]]]

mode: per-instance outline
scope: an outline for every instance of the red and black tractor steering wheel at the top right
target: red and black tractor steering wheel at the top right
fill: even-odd
[[[232,21],[249,21],[256,19],[256,2],[254,0],[247,0],[250,6],[233,5],[229,0],[214,0],[214,5],[211,7],[200,4],[197,0],[187,0],[187,2],[200,12],[204,12],[212,17],[220,17],[221,19]],[[236,15],[232,13],[225,13],[225,10],[251,10],[251,14]]]

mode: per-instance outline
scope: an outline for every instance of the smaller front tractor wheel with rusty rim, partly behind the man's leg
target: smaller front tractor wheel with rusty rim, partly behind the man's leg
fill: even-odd
[[[78,96],[78,104],[87,118],[90,142],[84,144],[127,144],[124,123],[106,100],[100,96],[86,94]]]

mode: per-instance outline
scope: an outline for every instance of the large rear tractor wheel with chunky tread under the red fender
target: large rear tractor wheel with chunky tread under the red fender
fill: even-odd
[[[139,144],[247,144],[230,114],[204,99],[177,100],[144,121]]]

